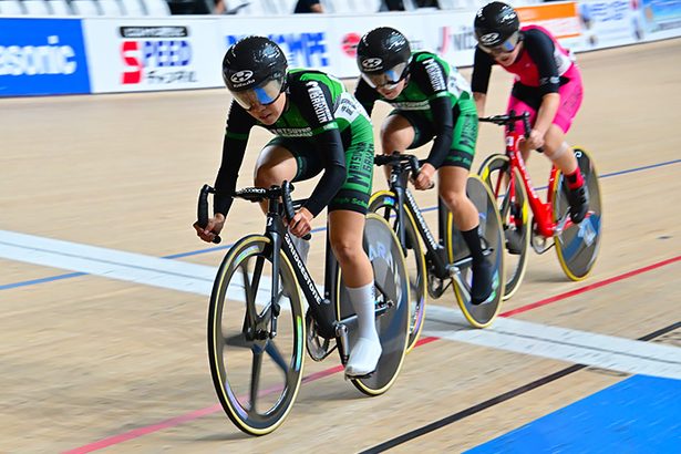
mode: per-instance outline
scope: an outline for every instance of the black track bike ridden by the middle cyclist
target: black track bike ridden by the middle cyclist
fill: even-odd
[[[454,289],[464,317],[473,327],[485,328],[492,324],[504,295],[504,244],[502,221],[488,187],[474,175],[466,182],[468,198],[479,213],[484,254],[494,269],[492,295],[487,301],[475,306],[471,302],[473,260],[461,231],[454,226],[452,213],[438,198],[436,239],[407,188],[410,175],[415,178],[419,174],[419,158],[393,153],[375,156],[374,164],[390,166],[390,188],[374,193],[369,200],[369,209],[392,224],[407,261],[412,314],[407,351],[413,349],[423,329],[426,293],[437,299],[450,286]]]

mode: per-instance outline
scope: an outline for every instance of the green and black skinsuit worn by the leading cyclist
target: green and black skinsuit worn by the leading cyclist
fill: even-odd
[[[250,130],[262,126],[276,136],[269,145],[287,148],[298,164],[293,180],[323,176],[303,205],[313,216],[350,209],[367,213],[373,175],[373,131],[369,115],[338,79],[319,71],[291,70],[286,81],[287,104],[272,125],[254,118],[233,102],[223,161],[215,188],[215,213],[227,215]]]

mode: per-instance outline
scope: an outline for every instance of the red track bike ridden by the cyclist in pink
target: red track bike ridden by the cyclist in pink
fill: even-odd
[[[591,271],[600,247],[602,207],[598,173],[594,159],[582,148],[575,156],[589,192],[589,210],[585,219],[574,224],[569,217],[567,184],[563,174],[551,165],[546,202],[537,195],[525,168],[519,143],[525,137],[516,131],[522,121],[526,134],[530,131],[529,114],[496,115],[481,122],[505,126],[506,152],[493,154],[481,166],[479,175],[498,200],[506,237],[506,293],[508,299],[518,289],[525,269],[529,246],[544,254],[556,246],[558,261],[566,276],[581,280]],[[532,221],[530,214],[532,210]],[[553,238],[553,243],[548,240]]]

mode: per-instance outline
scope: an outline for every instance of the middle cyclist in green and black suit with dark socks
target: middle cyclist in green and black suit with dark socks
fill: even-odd
[[[493,293],[494,272],[483,254],[477,209],[466,196],[477,141],[477,113],[468,83],[434,53],[412,53],[407,39],[388,27],[362,37],[357,64],[361,78],[354,94],[367,112],[371,115],[378,100],[394,106],[381,127],[383,153],[402,153],[434,138],[414,186],[429,189],[437,171],[440,197],[473,258],[471,300],[485,302]]]

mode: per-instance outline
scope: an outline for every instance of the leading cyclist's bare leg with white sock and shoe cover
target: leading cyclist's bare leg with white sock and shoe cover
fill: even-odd
[[[358,317],[358,341],[345,365],[349,375],[373,372],[381,358],[381,341],[375,328],[373,269],[364,248],[364,215],[339,209],[329,213],[329,240]]]

